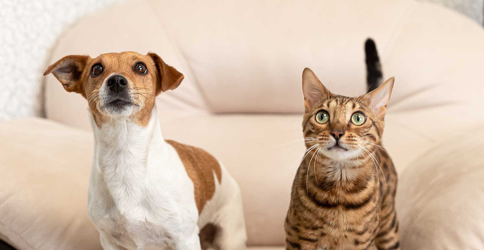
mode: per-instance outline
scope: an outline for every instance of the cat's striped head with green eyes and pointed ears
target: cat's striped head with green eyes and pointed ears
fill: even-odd
[[[302,72],[306,147],[320,148],[334,161],[347,161],[375,151],[380,142],[386,105],[394,78],[360,97],[331,93],[309,68]],[[317,145],[317,146],[316,146]]]

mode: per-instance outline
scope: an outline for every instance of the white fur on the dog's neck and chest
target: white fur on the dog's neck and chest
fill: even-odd
[[[170,249],[198,233],[193,182],[156,128],[157,119],[147,127],[119,120],[93,125],[89,217],[105,238],[129,250]]]

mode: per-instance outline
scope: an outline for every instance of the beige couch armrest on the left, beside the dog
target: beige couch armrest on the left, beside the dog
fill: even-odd
[[[0,235],[18,250],[101,250],[87,218],[92,136],[31,118],[0,123]]]

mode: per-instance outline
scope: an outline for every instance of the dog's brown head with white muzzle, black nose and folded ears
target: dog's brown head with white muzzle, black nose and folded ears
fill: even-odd
[[[54,74],[68,92],[87,99],[98,126],[109,119],[131,119],[139,125],[150,120],[155,97],[177,88],[183,74],[158,55],[136,52],[67,56],[50,65],[44,75]]]

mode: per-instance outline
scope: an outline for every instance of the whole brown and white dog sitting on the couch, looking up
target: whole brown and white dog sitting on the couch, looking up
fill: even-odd
[[[105,250],[246,248],[235,180],[212,155],[161,134],[155,96],[183,74],[135,52],[67,56],[50,73],[91,109],[88,213]]]

